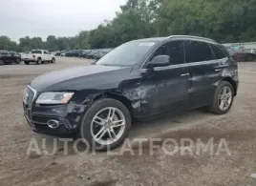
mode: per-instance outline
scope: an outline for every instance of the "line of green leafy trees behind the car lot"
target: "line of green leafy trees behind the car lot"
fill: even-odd
[[[0,50],[114,48],[145,37],[190,34],[220,43],[256,41],[256,0],[128,0],[116,18],[74,37],[49,35],[19,39],[0,36]]]

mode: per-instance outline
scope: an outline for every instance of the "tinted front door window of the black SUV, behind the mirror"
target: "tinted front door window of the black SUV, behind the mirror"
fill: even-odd
[[[183,41],[171,41],[161,46],[152,56],[151,60],[157,55],[169,55],[170,64],[178,65],[184,63]]]

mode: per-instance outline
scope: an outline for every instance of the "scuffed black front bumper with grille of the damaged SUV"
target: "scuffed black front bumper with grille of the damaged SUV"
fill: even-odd
[[[26,94],[26,93],[25,93]],[[40,105],[35,100],[39,93],[32,88],[28,90],[27,100],[23,99],[23,110],[26,120],[32,130],[42,134],[74,134],[77,133],[85,105],[70,103],[67,105]],[[50,121],[58,122],[58,126],[51,127]]]

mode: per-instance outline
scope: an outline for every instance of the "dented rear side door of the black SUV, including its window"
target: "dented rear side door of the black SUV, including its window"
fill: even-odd
[[[185,41],[185,61],[191,75],[191,107],[208,105],[217,81],[215,69],[219,61],[215,59],[210,44],[202,41]]]

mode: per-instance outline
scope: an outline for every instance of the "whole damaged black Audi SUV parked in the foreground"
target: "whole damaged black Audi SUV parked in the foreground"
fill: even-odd
[[[32,130],[76,133],[101,150],[117,148],[132,121],[200,107],[227,113],[237,64],[215,41],[169,36],[125,43],[95,65],[35,78],[23,108]]]

